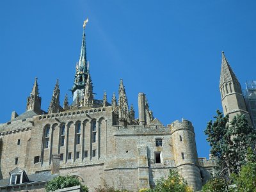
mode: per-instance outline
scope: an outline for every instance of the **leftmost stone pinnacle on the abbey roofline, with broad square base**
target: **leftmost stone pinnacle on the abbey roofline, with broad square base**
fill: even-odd
[[[41,97],[39,97],[37,77],[35,78],[32,92],[27,99],[26,111],[28,110],[33,110],[36,113],[41,114]]]

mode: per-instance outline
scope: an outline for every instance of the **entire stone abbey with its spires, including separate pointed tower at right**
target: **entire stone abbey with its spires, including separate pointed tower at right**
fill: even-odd
[[[57,175],[77,177],[90,191],[104,182],[138,191],[154,187],[170,169],[179,170],[191,188],[200,190],[214,173],[214,160],[198,159],[191,122],[176,120],[165,127],[153,117],[144,93],[138,93],[136,118],[122,79],[111,102],[106,92],[102,99],[94,97],[86,58],[86,22],[72,103],[66,95],[60,106],[57,81],[49,108],[43,111],[35,79],[26,111],[21,115],[13,111],[10,122],[0,124],[0,191],[44,191],[45,183]],[[225,114],[249,116],[224,54],[220,90]]]

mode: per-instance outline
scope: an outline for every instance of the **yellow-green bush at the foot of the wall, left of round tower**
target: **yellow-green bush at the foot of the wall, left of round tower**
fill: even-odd
[[[187,182],[179,175],[177,171],[170,170],[170,174],[167,179],[157,180],[156,188],[154,192],[192,192],[192,189],[189,188]]]

